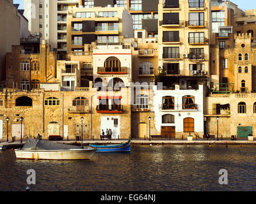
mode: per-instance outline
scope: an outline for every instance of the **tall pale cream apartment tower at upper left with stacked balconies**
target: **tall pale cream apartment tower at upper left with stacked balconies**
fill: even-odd
[[[31,34],[42,36],[58,52],[58,59],[67,53],[68,8],[79,5],[79,0],[24,0],[24,16],[29,21]]]

